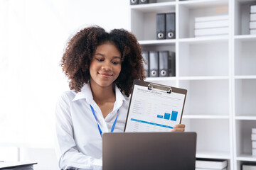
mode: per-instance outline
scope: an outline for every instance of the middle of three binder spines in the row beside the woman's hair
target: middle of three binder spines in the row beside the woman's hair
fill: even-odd
[[[157,51],[149,52],[149,77],[159,77],[159,56]]]

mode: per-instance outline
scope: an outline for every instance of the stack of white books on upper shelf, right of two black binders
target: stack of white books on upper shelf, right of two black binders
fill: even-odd
[[[228,35],[228,15],[195,18],[195,37]]]

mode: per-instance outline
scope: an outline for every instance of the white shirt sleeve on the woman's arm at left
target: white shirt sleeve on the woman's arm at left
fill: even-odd
[[[63,94],[55,108],[56,154],[60,169],[102,169],[102,159],[78,151],[73,138],[70,100]]]

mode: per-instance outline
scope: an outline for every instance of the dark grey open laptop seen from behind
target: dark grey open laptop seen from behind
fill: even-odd
[[[102,135],[102,170],[195,170],[196,132]]]

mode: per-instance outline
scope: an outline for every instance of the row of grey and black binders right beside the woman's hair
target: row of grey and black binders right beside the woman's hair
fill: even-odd
[[[143,51],[146,77],[175,77],[175,52]]]

